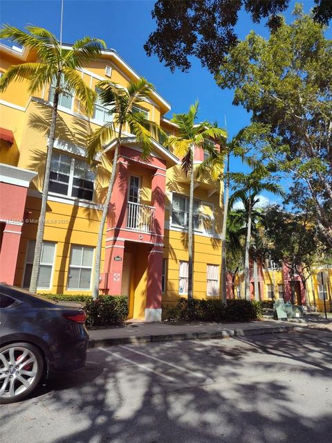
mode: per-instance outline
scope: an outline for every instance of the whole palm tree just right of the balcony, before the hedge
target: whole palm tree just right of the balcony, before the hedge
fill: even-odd
[[[194,207],[194,148],[199,147],[209,153],[214,148],[208,143],[212,138],[215,141],[226,136],[223,129],[212,127],[208,122],[195,124],[199,102],[190,106],[187,114],[174,114],[172,122],[178,126],[178,136],[169,137],[169,145],[174,147],[175,153],[182,158],[182,169],[190,177],[189,215],[188,215],[188,299],[193,298],[193,207]]]

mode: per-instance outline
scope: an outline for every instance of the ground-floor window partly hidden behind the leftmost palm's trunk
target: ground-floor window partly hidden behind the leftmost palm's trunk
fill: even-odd
[[[30,287],[31,273],[33,271],[33,259],[35,257],[35,240],[29,240],[26,251],[26,269],[24,270],[23,287]],[[42,255],[38,275],[38,289],[50,289],[52,286],[52,271],[55,256],[55,243],[43,242]]]

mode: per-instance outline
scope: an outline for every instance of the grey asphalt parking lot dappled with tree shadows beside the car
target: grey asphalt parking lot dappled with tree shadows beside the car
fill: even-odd
[[[1,443],[331,443],[332,334],[94,348],[0,413]]]

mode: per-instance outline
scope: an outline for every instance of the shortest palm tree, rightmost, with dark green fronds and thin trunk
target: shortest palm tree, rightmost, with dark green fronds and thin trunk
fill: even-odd
[[[249,269],[249,251],[252,237],[252,215],[255,205],[259,202],[260,192],[271,192],[273,195],[284,197],[284,191],[281,186],[270,181],[270,172],[263,166],[259,165],[252,170],[250,174],[238,173],[234,174],[240,188],[230,196],[230,208],[234,206],[236,201],[242,201],[246,212],[246,246],[244,258],[244,275],[245,275],[245,293],[246,299],[250,300],[250,269]]]

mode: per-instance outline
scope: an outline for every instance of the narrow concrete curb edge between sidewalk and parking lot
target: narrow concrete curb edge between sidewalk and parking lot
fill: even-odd
[[[275,327],[257,327],[255,329],[223,329],[214,332],[183,332],[181,334],[156,334],[156,335],[140,335],[128,337],[113,338],[91,338],[89,340],[89,348],[99,346],[115,346],[126,345],[129,343],[148,343],[150,341],[176,341],[176,340],[195,340],[207,338],[231,338],[237,336],[252,336],[261,334],[278,334],[280,332],[288,332],[293,329],[299,329],[296,325],[275,326]],[[302,328],[301,328],[302,329]]]

